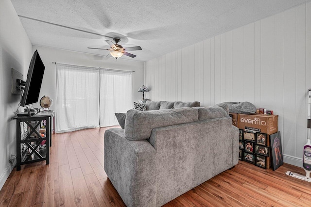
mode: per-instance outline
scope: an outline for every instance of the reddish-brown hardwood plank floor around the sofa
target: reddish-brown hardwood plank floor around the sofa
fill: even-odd
[[[13,169],[0,191],[0,207],[125,206],[104,172],[107,128],[53,135],[50,164]],[[273,171],[240,161],[165,206],[310,207],[311,183],[285,175],[287,170],[304,174],[289,164]]]

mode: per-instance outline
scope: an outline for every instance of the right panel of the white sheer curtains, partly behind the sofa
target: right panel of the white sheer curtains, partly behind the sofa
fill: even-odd
[[[101,70],[100,126],[118,125],[115,112],[132,108],[132,73]]]

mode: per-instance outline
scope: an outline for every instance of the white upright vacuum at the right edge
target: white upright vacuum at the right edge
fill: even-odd
[[[303,147],[303,169],[306,171],[306,176],[292,173],[290,171],[287,171],[286,175],[290,175],[292,177],[311,182],[311,89],[309,89],[308,93],[308,103],[308,140]]]

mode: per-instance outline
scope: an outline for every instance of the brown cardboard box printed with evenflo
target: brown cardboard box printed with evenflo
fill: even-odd
[[[238,114],[238,128],[244,131],[274,134],[277,132],[278,115]]]

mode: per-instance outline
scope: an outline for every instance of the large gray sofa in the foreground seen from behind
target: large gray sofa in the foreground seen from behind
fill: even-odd
[[[125,128],[104,134],[104,169],[124,203],[159,207],[235,166],[239,130],[228,112],[219,106],[127,111]]]

